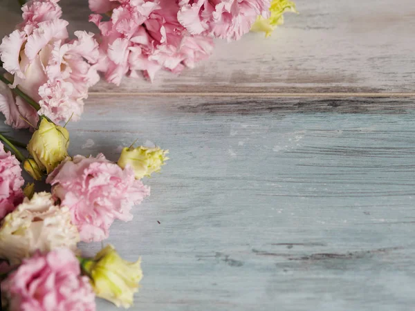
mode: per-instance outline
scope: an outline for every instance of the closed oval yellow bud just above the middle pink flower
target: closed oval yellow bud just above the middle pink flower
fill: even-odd
[[[68,131],[42,117],[28,144],[28,151],[38,167],[49,174],[68,156],[68,146]]]

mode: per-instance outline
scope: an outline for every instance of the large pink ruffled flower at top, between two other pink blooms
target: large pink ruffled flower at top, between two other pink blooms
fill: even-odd
[[[111,21],[90,17],[101,31],[96,68],[108,82],[120,84],[122,76],[138,72],[153,80],[161,68],[180,73],[212,53],[212,39],[192,37],[178,22],[178,1],[89,0],[89,6],[98,13],[112,10]]]

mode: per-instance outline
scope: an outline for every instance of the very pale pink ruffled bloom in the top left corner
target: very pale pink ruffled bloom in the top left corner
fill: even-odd
[[[60,19],[59,0],[35,0],[23,6],[24,21],[17,30],[3,38],[0,57],[12,80],[12,88],[39,102],[38,113],[10,89],[0,90],[0,111],[6,124],[27,128],[26,118],[34,126],[39,115],[53,122],[78,120],[89,87],[100,79],[91,64],[98,61],[98,43],[93,33],[76,31],[77,39],[69,40],[66,26]]]

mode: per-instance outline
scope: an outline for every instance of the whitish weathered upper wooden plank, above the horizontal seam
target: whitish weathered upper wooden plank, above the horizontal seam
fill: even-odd
[[[160,73],[150,84],[100,82],[95,92],[390,93],[414,92],[413,0],[297,0],[300,15],[272,37],[250,34],[216,42],[212,58],[176,77]],[[70,30],[92,30],[86,0],[62,0]],[[0,35],[20,21],[15,0],[0,3]]]

